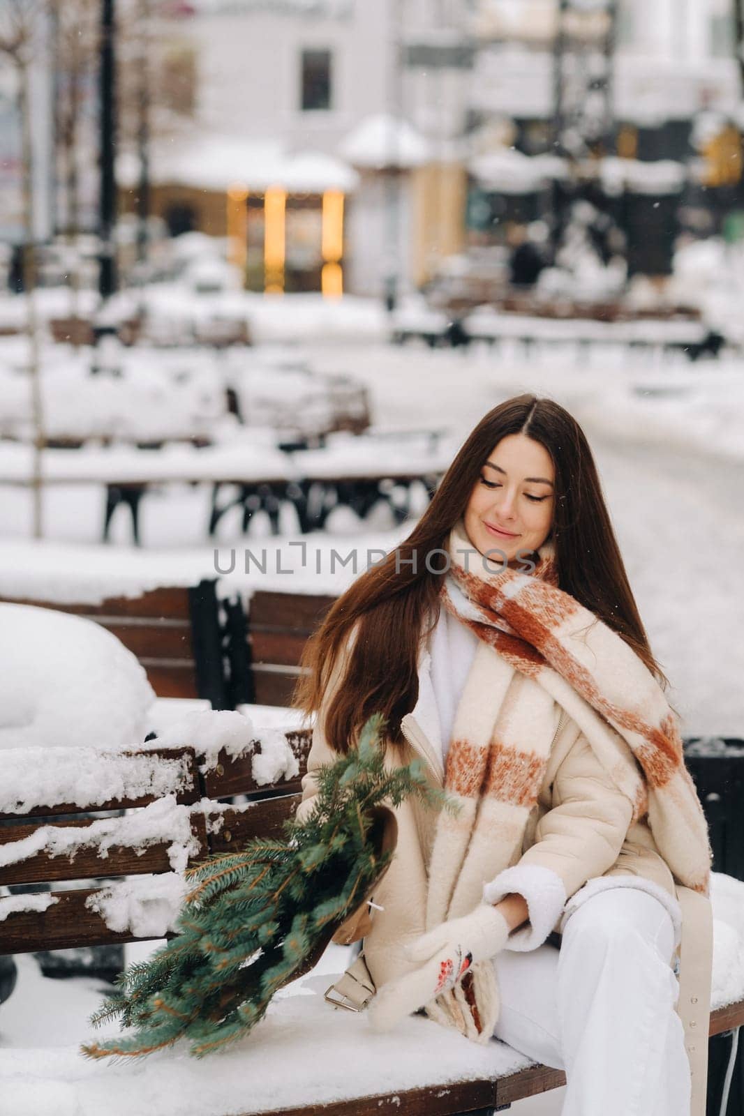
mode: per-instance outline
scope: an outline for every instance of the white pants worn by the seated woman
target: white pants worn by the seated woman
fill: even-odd
[[[669,912],[648,892],[622,887],[579,906],[560,950],[545,943],[494,958],[494,1035],[565,1070],[561,1116],[689,1116],[673,950]]]

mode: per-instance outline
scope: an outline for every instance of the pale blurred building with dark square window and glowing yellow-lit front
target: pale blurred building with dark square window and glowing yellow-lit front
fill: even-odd
[[[390,294],[462,246],[471,48],[439,0],[191,0],[159,9],[177,136],[152,144],[152,209],[230,235],[254,289]],[[132,208],[134,153],[118,169]],[[128,198],[126,196],[128,194]]]

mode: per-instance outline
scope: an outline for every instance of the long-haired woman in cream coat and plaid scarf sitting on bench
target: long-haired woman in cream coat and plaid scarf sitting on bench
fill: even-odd
[[[565,1069],[563,1116],[703,1116],[707,827],[575,420],[534,395],[485,415],[304,665],[299,820],[376,711],[385,762],[422,758],[459,804],[398,808],[335,937],[364,937],[373,1028],[496,1036]]]

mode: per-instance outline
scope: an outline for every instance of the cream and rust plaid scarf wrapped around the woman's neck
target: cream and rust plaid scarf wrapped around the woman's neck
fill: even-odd
[[[674,711],[633,650],[557,587],[546,541],[535,569],[484,559],[462,521],[452,529],[443,606],[480,641],[455,714],[445,788],[457,817],[437,818],[426,929],[467,914],[483,886],[522,854],[554,735],[554,703],[573,718],[613,782],[648,816],[659,853],[680,884],[709,894],[707,822],[683,758]],[[469,979],[468,979],[469,978]],[[496,978],[480,962],[427,1014],[475,1041],[498,1014]]]

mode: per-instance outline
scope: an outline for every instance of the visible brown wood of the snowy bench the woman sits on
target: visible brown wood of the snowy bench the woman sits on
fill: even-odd
[[[301,799],[299,778],[305,770],[309,750],[307,732],[287,733],[289,742],[299,764],[299,777],[280,785],[257,787],[251,775],[251,756],[244,754],[231,758],[220,753],[216,763],[206,773],[200,771],[202,757],[192,748],[132,750],[117,758],[104,756],[92,750],[90,767],[95,763],[117,762],[123,764],[122,772],[126,786],[127,772],[131,781],[142,780],[143,771],[151,772],[151,782],[158,780],[160,793],[170,792],[175,796],[179,807],[188,810],[190,831],[198,843],[198,853],[192,854],[190,863],[201,859],[208,853],[219,853],[239,847],[245,840],[256,836],[277,836],[285,818],[292,817]],[[59,756],[58,760],[64,760]],[[10,763],[12,772],[12,762]],[[218,831],[212,831],[212,822],[220,812],[220,804],[229,796],[248,795],[250,805],[228,806],[222,814],[222,825]],[[64,797],[64,796],[63,796]],[[207,801],[204,801],[207,800]],[[153,793],[136,796],[122,795],[117,799],[105,802],[89,800],[80,806],[50,799],[34,804],[23,815],[0,815],[0,849],[7,849],[9,844],[30,836],[39,826],[41,817],[45,824],[55,828],[71,828],[85,831],[90,826],[101,824],[102,817],[108,814],[112,824],[120,826],[123,834],[121,844],[111,840],[106,859],[101,859],[95,847],[77,848],[74,857],[69,855],[50,856],[48,850],[36,853],[17,863],[7,863],[0,867],[0,884],[2,885],[53,885],[50,893],[45,893],[42,903],[49,901],[44,911],[16,911],[0,921],[0,954],[26,953],[37,950],[66,949],[76,945],[95,946],[114,942],[141,941],[130,930],[111,930],[103,916],[95,911],[96,894],[108,887],[131,884],[137,876],[152,874],[152,879],[162,879],[163,895],[168,893],[168,881],[173,879],[168,855],[168,839],[160,844],[149,845],[137,849],[127,844],[125,837],[126,817],[115,816],[115,811],[142,811],[156,801]],[[84,810],[97,811],[96,819],[79,817]],[[114,811],[111,814],[109,811]],[[131,817],[131,816],[130,816]],[[76,835],[77,836],[77,835]],[[111,839],[111,838],[109,838]],[[6,859],[8,859],[6,857]],[[105,876],[104,876],[105,873]],[[122,877],[127,877],[124,881]],[[69,883],[75,881],[105,879],[104,887],[80,887],[69,889]],[[54,885],[65,883],[64,888],[55,889]],[[0,901],[1,903],[2,901]],[[23,903],[34,901],[28,894]],[[92,908],[93,903],[93,908]],[[146,935],[144,935],[146,937]],[[153,935],[150,935],[151,937]],[[173,936],[166,932],[164,935]],[[0,1008],[0,1013],[1,1013]],[[332,1009],[317,998],[315,1009],[318,1013]],[[337,1010],[337,1009],[336,1009]],[[323,1018],[322,1016],[319,1018]],[[744,1022],[744,1001],[713,1011],[710,1016],[710,1036],[732,1031]],[[296,1040],[294,1040],[296,1041]],[[508,1049],[508,1048],[506,1048]],[[296,1052],[296,1051],[295,1051]],[[328,1051],[331,1054],[331,1051]],[[250,1038],[242,1047],[240,1057],[250,1056]],[[334,1059],[343,1059],[343,1051],[333,1050]],[[162,1062],[161,1062],[162,1067]],[[214,1068],[207,1064],[204,1072],[211,1075]],[[246,1067],[246,1081],[250,1072]],[[398,1114],[409,1116],[455,1116],[460,1113],[477,1110],[489,1112],[494,1108],[508,1108],[512,1101],[543,1093],[565,1084],[562,1071],[546,1066],[531,1065],[496,1078],[481,1077],[464,1081],[431,1081],[426,1087],[407,1090],[376,1093],[361,1097],[352,1097],[333,1104],[321,1105],[309,1097],[305,1104],[285,1107],[283,1116],[374,1116],[382,1110],[395,1108]],[[82,1086],[83,1087],[83,1086]],[[245,1116],[250,1116],[250,1090],[246,1091]],[[178,1110],[178,1107],[174,1108]]]

